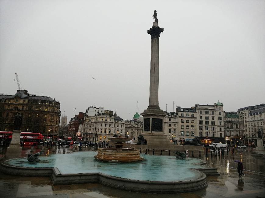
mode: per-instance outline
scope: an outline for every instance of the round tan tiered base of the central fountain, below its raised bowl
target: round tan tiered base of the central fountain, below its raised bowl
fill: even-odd
[[[98,149],[95,159],[101,162],[137,162],[142,161],[139,150],[136,149],[122,149],[122,151],[116,150],[116,148],[103,148]]]

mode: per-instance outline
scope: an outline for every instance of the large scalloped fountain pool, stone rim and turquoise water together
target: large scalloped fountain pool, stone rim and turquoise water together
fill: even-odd
[[[207,187],[206,175],[217,168],[202,166],[200,159],[142,155],[138,163],[102,163],[95,152],[75,152],[39,157],[30,163],[16,158],[1,163],[0,171],[21,176],[50,176],[54,185],[98,182],[118,189],[149,193],[185,193]],[[71,160],[69,160],[71,159]]]

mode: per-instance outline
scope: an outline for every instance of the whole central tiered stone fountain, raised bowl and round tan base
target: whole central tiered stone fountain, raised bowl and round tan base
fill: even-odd
[[[98,149],[95,159],[101,162],[138,162],[142,161],[140,151],[137,149],[122,148],[126,145],[123,142],[131,140],[131,138],[108,138],[114,143],[116,148],[101,148]]]

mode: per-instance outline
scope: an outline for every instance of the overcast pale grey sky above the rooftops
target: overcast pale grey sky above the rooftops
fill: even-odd
[[[69,118],[90,106],[132,119],[149,103],[152,15],[160,36],[159,105],[265,103],[265,1],[0,2],[0,93],[15,72]],[[92,77],[96,78],[93,80]]]

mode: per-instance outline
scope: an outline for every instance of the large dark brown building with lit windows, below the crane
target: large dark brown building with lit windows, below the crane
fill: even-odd
[[[29,94],[27,90],[17,90],[15,95],[0,95],[1,131],[14,129],[14,119],[18,112],[23,117],[21,131],[38,132],[44,138],[58,135],[61,116],[59,101]]]

